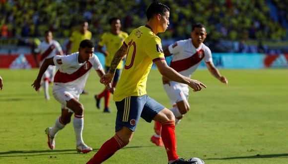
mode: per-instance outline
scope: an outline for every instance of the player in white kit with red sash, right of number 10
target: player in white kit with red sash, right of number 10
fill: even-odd
[[[168,48],[164,50],[164,55],[165,57],[173,55],[170,67],[181,75],[189,78],[196,71],[200,63],[204,61],[210,73],[220,82],[227,85],[227,79],[224,76],[221,76],[214,66],[210,48],[203,43],[206,36],[206,27],[201,23],[197,23],[192,27],[190,39],[179,40],[174,44],[169,45]],[[187,84],[173,82],[165,77],[162,78],[162,81],[164,89],[173,106],[171,111],[175,115],[175,123],[177,124],[190,109],[188,103],[189,87]],[[151,142],[157,146],[163,146],[160,136],[161,124],[155,122],[154,130],[155,135],[151,137]]]

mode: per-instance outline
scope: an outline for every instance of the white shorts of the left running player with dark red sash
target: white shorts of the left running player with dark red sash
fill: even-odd
[[[80,94],[77,91],[69,90],[62,86],[54,84],[53,86],[53,96],[54,98],[61,103],[62,109],[68,109],[69,112],[73,112],[70,108],[67,107],[67,101],[75,98],[79,100]]]

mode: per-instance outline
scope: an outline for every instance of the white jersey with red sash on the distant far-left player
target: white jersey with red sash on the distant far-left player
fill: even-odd
[[[40,63],[42,65],[45,59],[54,57],[57,53],[62,51],[62,48],[59,42],[52,40],[50,43],[47,43],[46,41],[41,42],[34,51],[40,53]]]

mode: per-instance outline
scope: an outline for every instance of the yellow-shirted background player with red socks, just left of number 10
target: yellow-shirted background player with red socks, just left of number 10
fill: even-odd
[[[119,17],[112,17],[111,19],[109,19],[109,24],[111,25],[111,30],[109,32],[103,33],[97,48],[97,50],[103,53],[105,56],[106,72],[110,68],[111,61],[116,51],[121,47],[123,41],[128,37],[128,34],[126,32],[121,31],[121,20]],[[103,50],[104,46],[106,46],[106,51]],[[117,66],[115,76],[112,82],[113,87],[116,87],[122,68],[123,68],[123,60],[121,60]],[[105,88],[100,94],[94,96],[96,100],[96,107],[98,109],[100,109],[100,99],[102,97],[104,97],[105,101],[104,112],[110,113],[111,112],[109,109],[110,92],[107,90],[107,88]]]

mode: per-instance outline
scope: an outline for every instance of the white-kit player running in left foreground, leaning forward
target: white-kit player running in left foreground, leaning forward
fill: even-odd
[[[79,95],[83,91],[91,69],[94,69],[99,77],[105,74],[98,57],[94,55],[94,44],[91,40],[85,39],[81,41],[78,52],[68,56],[57,55],[46,59],[40,68],[37,79],[32,84],[36,91],[39,90],[41,77],[49,65],[59,66],[54,78],[53,96],[61,103],[62,113],[56,119],[55,125],[45,130],[48,136],[48,146],[52,150],[55,148],[54,139],[57,132],[70,123],[74,113],[76,150],[82,153],[90,152],[92,148],[84,144],[82,139],[84,107],[79,101]],[[111,85],[108,85],[108,88],[111,88]]]

